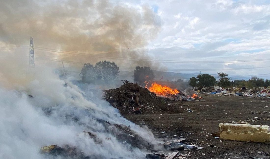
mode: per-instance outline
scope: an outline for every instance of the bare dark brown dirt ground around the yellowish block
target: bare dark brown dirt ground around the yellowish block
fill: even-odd
[[[210,134],[218,132],[218,123],[247,120],[258,117],[258,121],[249,122],[255,125],[270,125],[270,99],[259,97],[203,95],[200,101],[172,102],[181,113],[177,114],[126,114],[130,121],[142,122],[152,130],[157,138],[164,141],[181,136],[196,143],[201,150],[180,151],[189,153],[187,158],[270,158],[270,145],[255,142],[238,142],[215,139]],[[269,106],[269,107],[268,107]],[[192,112],[188,112],[191,108]],[[267,111],[266,114],[261,114]],[[199,114],[198,114],[199,113]],[[166,133],[161,134],[161,132]],[[208,134],[209,133],[209,134]],[[214,145],[215,147],[210,147]],[[257,153],[261,151],[262,153]]]

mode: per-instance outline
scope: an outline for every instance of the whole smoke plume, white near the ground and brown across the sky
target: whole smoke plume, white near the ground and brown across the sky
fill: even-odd
[[[100,55],[114,57],[111,61],[124,66],[130,61],[121,58],[146,58],[144,49],[160,30],[160,19],[149,6],[102,0],[0,0],[0,4],[1,46],[29,48],[32,36],[36,59],[95,63],[104,59],[92,56]],[[151,132],[101,100],[102,91],[96,86],[60,80],[48,65],[29,68],[28,52],[0,50],[0,158],[44,158],[39,148],[52,144],[68,144],[100,158],[145,157],[146,152],[119,142],[100,121],[130,125],[156,143]],[[128,66],[137,65],[152,66],[144,61]],[[83,131],[97,134],[102,144]]]

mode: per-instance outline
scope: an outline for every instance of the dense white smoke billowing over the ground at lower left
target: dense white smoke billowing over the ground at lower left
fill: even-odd
[[[0,78],[0,158],[45,158],[40,147],[52,144],[75,146],[86,156],[145,158],[146,152],[117,141],[97,120],[130,125],[140,136],[155,142],[151,132],[123,118],[116,108],[101,100],[102,91],[95,86],[60,80],[50,68],[12,69],[0,70],[1,76],[9,73],[17,81],[27,80],[14,88],[13,81]],[[21,73],[16,76],[18,70]],[[83,131],[96,134],[102,144],[95,143]]]

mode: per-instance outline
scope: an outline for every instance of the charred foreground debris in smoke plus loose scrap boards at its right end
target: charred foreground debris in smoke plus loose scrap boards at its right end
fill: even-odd
[[[188,154],[188,150],[200,150],[203,147],[199,147],[197,143],[193,143],[188,139],[180,138],[168,138],[166,143],[151,143],[137,135],[133,130],[130,129],[129,126],[125,126],[123,124],[110,124],[109,122],[100,121],[103,125],[108,127],[112,127],[109,129],[110,131],[114,132],[116,135],[116,139],[123,144],[130,144],[132,147],[139,148],[144,150],[146,153],[146,158],[156,159],[156,158],[178,158],[178,157],[187,157],[190,155]],[[103,144],[102,140],[97,137],[96,134],[92,134],[91,132],[84,132],[85,135],[88,135],[92,138],[95,143]],[[106,138],[106,140],[111,140],[111,138]],[[166,139],[165,139],[166,140]],[[181,151],[181,153],[180,153]],[[57,158],[59,156],[66,157],[66,158],[76,158],[76,159],[102,159],[104,156],[101,155],[88,155],[86,156],[82,151],[77,149],[76,147],[72,147],[69,145],[63,145],[59,147],[58,145],[50,145],[50,146],[43,146],[40,148],[40,152],[49,158]],[[153,153],[154,152],[154,153]],[[137,158],[134,156],[134,158]],[[113,158],[112,158],[113,159]]]

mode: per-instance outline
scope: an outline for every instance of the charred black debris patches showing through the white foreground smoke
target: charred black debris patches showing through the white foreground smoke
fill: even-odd
[[[102,124],[105,128],[107,128],[107,130],[114,136],[116,136],[116,139],[119,142],[122,142],[123,144],[130,144],[132,147],[136,147],[144,151],[151,151],[154,150],[155,148],[160,148],[164,145],[156,142],[155,144],[153,144],[152,143],[153,141],[144,139],[142,136],[138,135],[135,131],[130,129],[130,126],[126,126],[123,124],[111,124],[110,122],[106,122],[103,120],[98,120],[98,122]],[[102,139],[100,139],[97,134],[86,131],[84,131],[83,134],[93,139],[95,144],[99,144],[102,147],[104,146]],[[112,140],[112,139],[110,137],[109,138],[106,137],[105,140]],[[69,145],[63,145],[62,147],[59,147],[58,145],[43,146],[40,148],[40,152],[45,156],[51,158],[53,157],[57,158],[57,156],[71,157],[76,159],[104,158],[104,156],[101,155],[86,156],[78,148]]]

